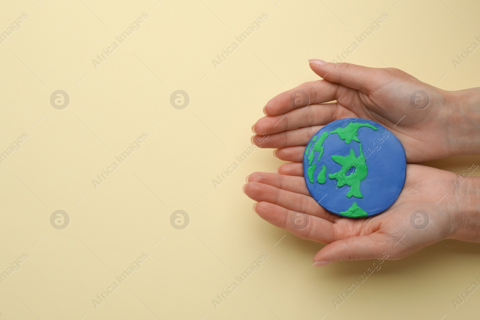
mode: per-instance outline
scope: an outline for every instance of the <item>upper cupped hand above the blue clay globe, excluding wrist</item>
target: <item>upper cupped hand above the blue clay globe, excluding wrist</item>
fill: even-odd
[[[394,68],[318,59],[310,60],[310,68],[323,79],[300,84],[268,101],[264,107],[267,116],[252,127],[257,133],[252,143],[279,148],[276,155],[288,157],[301,154],[300,149],[325,124],[364,118],[396,135],[408,163],[455,155],[456,146],[463,147],[451,130],[457,125],[452,124],[460,99],[456,92],[435,88]]]

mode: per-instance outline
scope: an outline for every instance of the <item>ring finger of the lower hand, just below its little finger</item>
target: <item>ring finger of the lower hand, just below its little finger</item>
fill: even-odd
[[[247,177],[248,182],[260,182],[278,189],[310,196],[305,179],[302,177],[284,176],[270,172],[253,172]]]

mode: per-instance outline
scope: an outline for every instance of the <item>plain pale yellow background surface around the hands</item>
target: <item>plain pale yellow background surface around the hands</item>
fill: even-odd
[[[28,134],[0,164],[0,272],[28,254],[0,284],[0,320],[478,318],[478,290],[452,303],[480,284],[478,244],[444,241],[385,261],[335,308],[332,299],[373,261],[313,268],[322,244],[252,212],[241,187],[252,171],[275,171],[272,151],[255,151],[212,184],[250,146],[269,98],[318,79],[307,59],[335,59],[382,12],[388,18],[348,62],[397,67],[447,90],[479,86],[480,49],[452,63],[480,44],[477,1],[36,1],[2,1],[0,10],[0,32],[28,14],[0,44],[0,152]],[[141,28],[95,68],[92,59],[142,12]],[[212,59],[262,12],[261,28],[215,68]],[[70,96],[62,110],[49,102],[56,90]],[[185,109],[170,105],[176,90],[190,96]],[[92,179],[142,132],[140,149],[95,188]],[[480,160],[429,165],[461,173],[472,162]],[[50,224],[56,210],[70,217],[62,230]],[[170,225],[176,210],[188,213],[187,228]],[[119,284],[143,252],[141,268]],[[261,269],[215,308],[212,299],[263,252]]]

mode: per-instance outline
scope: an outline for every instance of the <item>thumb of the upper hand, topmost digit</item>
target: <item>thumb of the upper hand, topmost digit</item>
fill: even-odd
[[[308,62],[312,71],[326,81],[340,83],[367,94],[383,87],[385,83],[400,80],[396,74],[400,75],[402,72],[393,68],[370,68],[346,62],[326,62],[321,59],[309,59]]]

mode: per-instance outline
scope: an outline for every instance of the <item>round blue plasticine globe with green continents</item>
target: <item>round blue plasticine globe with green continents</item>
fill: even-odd
[[[339,119],[307,144],[303,175],[322,207],[348,218],[385,211],[405,183],[405,150],[396,136],[368,119]]]

